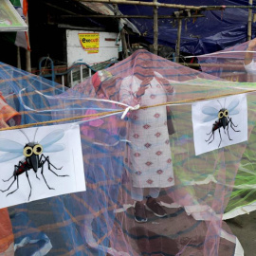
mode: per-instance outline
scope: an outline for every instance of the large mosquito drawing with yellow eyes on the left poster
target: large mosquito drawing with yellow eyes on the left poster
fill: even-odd
[[[28,171],[33,170],[34,173],[36,174],[36,177],[40,180],[40,178],[37,176],[37,172],[40,168],[41,168],[41,174],[46,182],[46,186],[48,187],[49,190],[54,190],[53,188],[49,187],[46,181],[46,177],[44,175],[44,165],[46,163],[48,164],[48,170],[51,173],[55,174],[56,176],[58,177],[68,176],[68,175],[56,174],[51,168],[53,167],[55,170],[61,170],[63,167],[56,168],[50,162],[49,156],[46,156],[43,154],[43,151],[44,153],[51,153],[51,152],[59,152],[64,150],[63,144],[58,144],[58,143],[54,144],[57,141],[59,141],[62,137],[64,137],[64,130],[59,129],[49,133],[39,143],[34,142],[37,131],[38,129],[35,131],[33,141],[30,142],[27,135],[22,130],[20,130],[20,132],[25,137],[27,137],[27,140],[28,140],[28,143],[25,146],[10,139],[4,139],[4,138],[0,139],[0,151],[7,152],[6,154],[0,156],[0,163],[9,161],[21,155],[25,156],[25,159],[19,161],[18,165],[14,165],[14,172],[12,176],[9,177],[8,180],[3,180],[4,182],[8,182],[12,177],[14,177],[14,180],[9,185],[9,188],[4,191],[0,190],[0,192],[9,191],[10,187],[13,185],[15,180],[17,180],[17,189],[13,191],[13,192],[16,192],[19,189],[19,175],[25,173],[27,176],[29,187],[30,187],[30,192],[28,196],[28,201],[29,201],[29,198],[32,192],[32,186],[28,177]],[[9,192],[7,196],[13,192]]]

